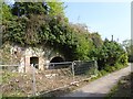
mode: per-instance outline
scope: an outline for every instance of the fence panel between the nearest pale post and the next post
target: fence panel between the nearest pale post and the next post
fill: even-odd
[[[39,72],[37,78],[37,92],[49,92],[70,85],[73,81],[72,62],[50,63],[49,68]],[[41,86],[43,86],[43,88]]]

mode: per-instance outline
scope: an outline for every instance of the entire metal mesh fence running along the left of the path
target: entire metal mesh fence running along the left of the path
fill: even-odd
[[[7,88],[12,92],[18,91],[18,96],[38,96],[84,80],[98,72],[95,61],[50,63],[44,70],[34,68],[37,65],[31,64],[29,73],[19,73],[19,65],[0,65],[3,96],[8,94]]]

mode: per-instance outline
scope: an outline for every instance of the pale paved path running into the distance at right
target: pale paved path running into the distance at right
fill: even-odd
[[[131,64],[126,68],[96,79],[63,97],[104,97],[122,76],[129,75],[130,73]]]

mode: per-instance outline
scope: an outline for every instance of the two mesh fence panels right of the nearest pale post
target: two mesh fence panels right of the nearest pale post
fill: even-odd
[[[98,64],[95,61],[49,63],[49,68],[43,73],[40,72],[40,80],[44,86],[43,92],[49,92],[82,81],[96,74]],[[37,91],[41,89],[39,87],[39,82],[37,82]]]

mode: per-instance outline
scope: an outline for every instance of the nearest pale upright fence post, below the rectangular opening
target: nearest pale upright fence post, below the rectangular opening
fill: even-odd
[[[32,89],[33,89],[33,96],[35,96],[35,92],[37,92],[37,86],[35,86],[35,72],[34,72],[34,66],[33,64],[31,64],[31,67],[32,67]]]

